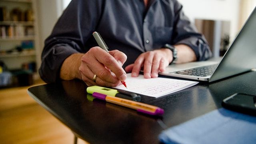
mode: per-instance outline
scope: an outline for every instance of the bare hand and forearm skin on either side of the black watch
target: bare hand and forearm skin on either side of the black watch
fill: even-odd
[[[189,46],[178,44],[175,47],[178,51],[178,60],[176,63],[196,60],[196,54]],[[158,72],[164,72],[170,62],[172,62],[172,51],[167,48],[160,48],[140,54],[134,64],[126,66],[125,71],[132,72],[132,77],[137,77],[143,68],[144,78],[156,78],[158,77]]]

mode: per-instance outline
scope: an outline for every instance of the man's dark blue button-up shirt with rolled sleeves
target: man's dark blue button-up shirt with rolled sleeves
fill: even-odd
[[[202,34],[190,23],[176,0],[72,0],[52,34],[46,39],[39,73],[45,82],[59,79],[62,62],[73,53],[98,46],[92,33],[100,33],[109,50],[127,55],[124,67],[143,52],[164,44],[186,44],[197,60],[211,56]]]

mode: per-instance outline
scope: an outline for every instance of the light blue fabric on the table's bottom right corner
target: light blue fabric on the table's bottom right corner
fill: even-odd
[[[168,144],[256,144],[256,116],[220,108],[168,128],[158,138]]]

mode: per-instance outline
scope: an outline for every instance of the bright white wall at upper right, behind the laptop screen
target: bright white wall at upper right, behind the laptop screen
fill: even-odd
[[[230,39],[239,31],[240,0],[178,0],[185,14],[194,22],[195,18],[230,21]]]

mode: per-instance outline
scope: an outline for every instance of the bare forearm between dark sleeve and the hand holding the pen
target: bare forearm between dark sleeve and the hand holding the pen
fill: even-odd
[[[60,68],[60,78],[62,80],[82,79],[79,67],[84,54],[75,53],[66,58]]]

